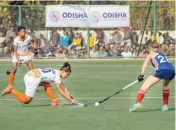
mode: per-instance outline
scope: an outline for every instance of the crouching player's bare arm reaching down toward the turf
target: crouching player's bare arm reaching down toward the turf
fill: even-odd
[[[70,95],[70,93],[68,92],[65,85],[63,85],[63,83],[61,83],[61,84],[56,83],[56,88],[59,91],[59,93],[62,95],[62,97],[64,97],[70,103],[76,103],[76,100],[73,99],[73,97]]]

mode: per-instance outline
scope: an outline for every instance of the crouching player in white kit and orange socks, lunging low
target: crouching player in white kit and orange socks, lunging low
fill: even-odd
[[[44,85],[45,92],[52,101],[52,106],[62,106],[58,99],[55,97],[50,83],[55,82],[57,90],[60,94],[67,99],[71,104],[82,105],[78,103],[68,92],[66,86],[62,83],[61,79],[66,79],[71,73],[71,66],[69,63],[64,63],[60,70],[52,68],[38,68],[33,69],[26,73],[24,76],[25,94],[17,91],[13,87],[7,87],[2,96],[12,94],[20,103],[29,104],[34,98],[36,91],[40,85]]]

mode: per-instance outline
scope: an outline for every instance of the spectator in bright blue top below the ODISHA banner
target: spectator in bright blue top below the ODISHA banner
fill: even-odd
[[[60,38],[60,46],[69,46],[69,41],[70,41],[70,36],[68,35],[68,33],[63,30],[63,36],[61,36]]]

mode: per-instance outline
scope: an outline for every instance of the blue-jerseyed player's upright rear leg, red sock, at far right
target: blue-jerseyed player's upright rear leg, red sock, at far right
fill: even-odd
[[[163,80],[163,106],[161,108],[162,111],[168,111],[168,102],[169,102],[169,88],[170,80]]]

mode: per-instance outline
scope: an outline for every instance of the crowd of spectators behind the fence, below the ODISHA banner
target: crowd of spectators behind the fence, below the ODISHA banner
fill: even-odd
[[[153,39],[150,26],[144,32],[136,31],[132,27],[114,28],[105,34],[107,29],[94,29],[89,34],[89,46],[82,31],[71,28],[51,31],[50,38],[42,33],[37,37],[34,30],[27,29],[37,43],[36,57],[58,58],[92,58],[105,57],[145,57],[149,53],[148,42]],[[106,35],[108,36],[108,39]],[[16,37],[14,27],[6,29],[0,25],[0,56],[11,56],[13,39]],[[106,39],[106,40],[105,40]],[[160,44],[160,51],[168,56],[175,56],[175,39],[168,32],[157,32],[156,40]],[[141,43],[141,44],[140,44]]]

